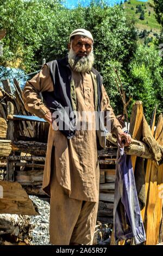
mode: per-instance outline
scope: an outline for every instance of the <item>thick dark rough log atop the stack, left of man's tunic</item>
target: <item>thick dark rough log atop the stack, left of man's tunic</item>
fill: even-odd
[[[17,141],[12,142],[12,150],[32,155],[46,155],[47,143],[35,141]]]

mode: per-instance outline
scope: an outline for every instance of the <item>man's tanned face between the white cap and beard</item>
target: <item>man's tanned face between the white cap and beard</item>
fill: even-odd
[[[68,48],[70,50],[70,45],[68,45]],[[72,41],[72,50],[77,57],[86,57],[92,51],[92,40],[90,38],[83,38],[80,35],[76,35]]]

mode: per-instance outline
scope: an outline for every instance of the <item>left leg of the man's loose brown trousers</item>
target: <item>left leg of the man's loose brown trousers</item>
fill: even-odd
[[[49,221],[50,242],[53,245],[69,245],[81,208],[82,201],[69,198],[67,190],[53,178]]]

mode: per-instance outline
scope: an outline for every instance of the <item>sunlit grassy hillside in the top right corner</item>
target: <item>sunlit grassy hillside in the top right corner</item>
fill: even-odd
[[[152,30],[152,33],[159,33],[161,26],[156,21],[155,12],[153,8],[149,6],[149,3],[153,4],[153,1],[148,0],[148,2],[141,2],[137,0],[130,0],[128,2],[125,2],[123,6],[127,11],[127,15],[129,17],[134,17],[134,19],[136,20],[136,27],[139,29],[139,31],[143,31],[143,29],[146,29],[147,31]],[[136,13],[136,5],[139,4],[141,5],[142,10],[145,11],[145,20],[140,20],[139,17],[141,13]]]

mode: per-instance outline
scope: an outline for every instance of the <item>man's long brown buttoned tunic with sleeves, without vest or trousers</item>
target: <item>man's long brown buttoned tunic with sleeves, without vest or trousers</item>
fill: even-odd
[[[77,111],[95,111],[93,82],[90,73],[72,72],[76,87]],[[55,89],[55,85],[54,85]],[[45,65],[39,74],[28,81],[23,90],[23,101],[27,111],[43,118],[49,109],[43,104],[39,93],[53,91],[49,69]],[[102,88],[102,111],[110,111],[111,131],[122,132],[109,97]],[[78,120],[79,121],[79,120]],[[90,122],[89,117],[87,122]],[[95,125],[95,119],[92,119]],[[53,150],[54,149],[54,150]],[[55,157],[55,165],[52,166]],[[67,139],[60,131],[49,128],[47,154],[43,177],[43,190],[49,193],[51,172],[56,172],[57,180],[68,190],[70,198],[89,202],[98,201],[99,166],[97,160],[96,130],[77,130],[72,139]]]

